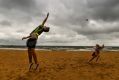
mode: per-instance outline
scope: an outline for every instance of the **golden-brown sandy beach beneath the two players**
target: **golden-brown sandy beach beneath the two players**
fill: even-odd
[[[28,71],[26,50],[0,49],[0,80],[119,80],[119,52],[101,52],[98,63],[87,63],[91,52],[36,51],[40,68]]]

